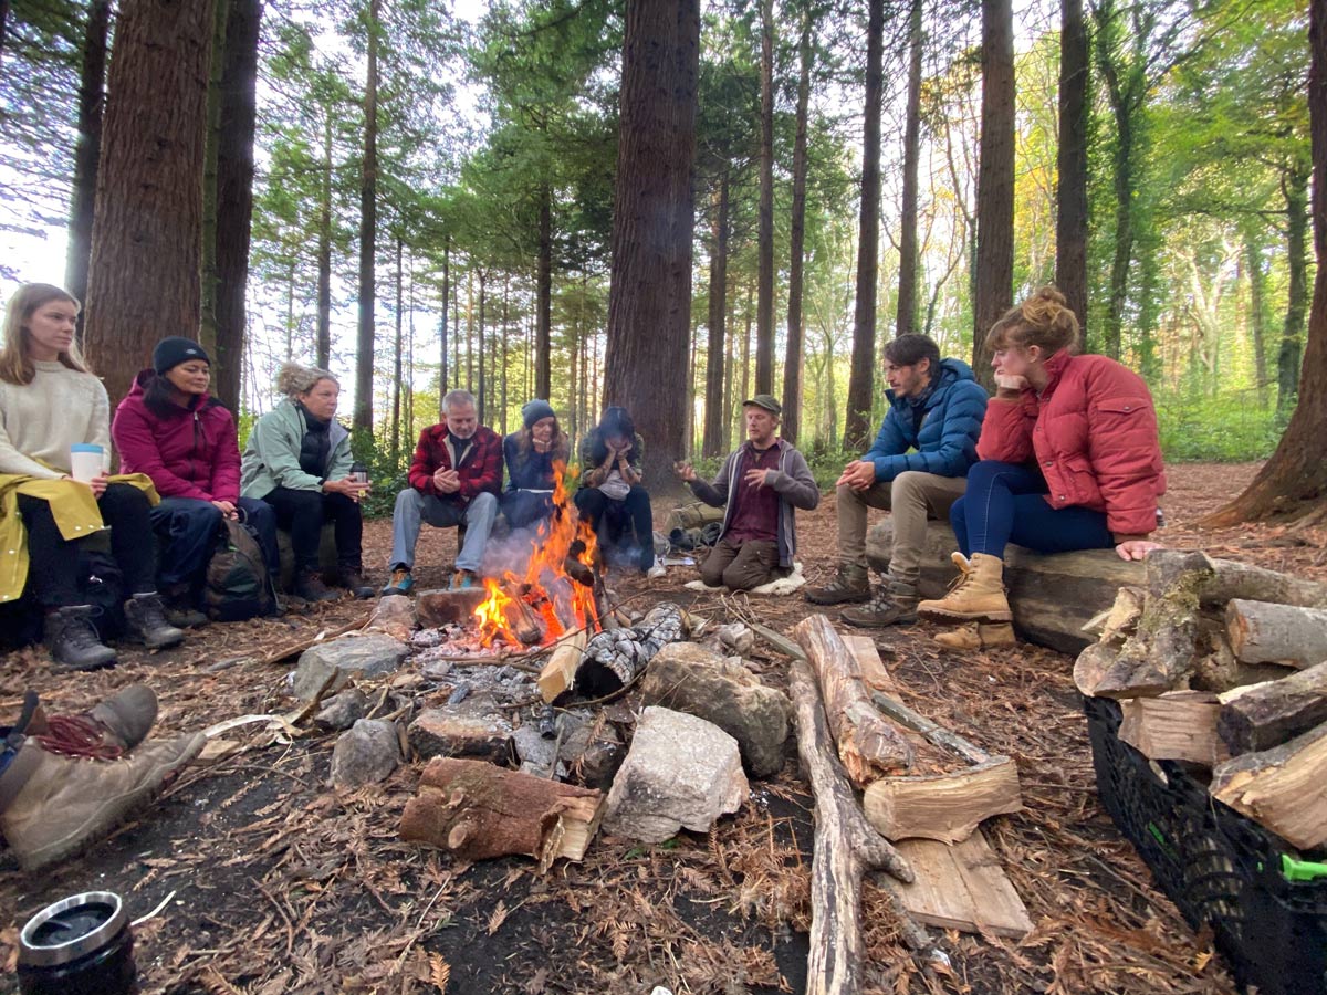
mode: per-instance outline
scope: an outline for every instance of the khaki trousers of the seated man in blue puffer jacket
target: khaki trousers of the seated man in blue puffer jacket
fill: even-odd
[[[839,564],[867,569],[867,508],[884,508],[894,520],[894,548],[889,573],[904,584],[921,578],[921,551],[926,547],[926,520],[949,519],[949,509],[963,496],[967,480],[909,470],[889,483],[865,491],[839,488]]]

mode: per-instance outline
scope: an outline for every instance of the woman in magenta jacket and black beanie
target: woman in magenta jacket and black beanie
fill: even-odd
[[[264,501],[240,498],[235,418],[207,387],[211,362],[198,342],[163,338],[153,366],[134,379],[115,409],[110,434],[121,470],[153,479],[162,503],[153,508],[161,547],[158,582],[167,605],[196,614],[207,561],[222,519],[244,517],[255,531],[271,576],[280,569],[276,519]]]

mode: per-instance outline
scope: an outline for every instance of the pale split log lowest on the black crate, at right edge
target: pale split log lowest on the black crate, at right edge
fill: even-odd
[[[1243,754],[1212,771],[1212,796],[1292,846],[1327,842],[1327,724],[1279,747]]]

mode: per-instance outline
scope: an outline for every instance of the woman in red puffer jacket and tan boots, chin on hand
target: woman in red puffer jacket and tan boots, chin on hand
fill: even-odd
[[[1007,622],[1009,543],[1040,553],[1115,549],[1141,560],[1160,544],[1165,492],[1156,410],[1143,378],[1104,356],[1076,356],[1079,324],[1043,287],[986,336],[995,398],[978,463],[949,512],[962,581],[917,610],[941,621]]]

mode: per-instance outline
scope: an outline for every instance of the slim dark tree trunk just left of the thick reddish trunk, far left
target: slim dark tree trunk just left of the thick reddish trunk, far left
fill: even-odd
[[[65,289],[80,301],[88,297],[88,260],[92,256],[92,219],[97,200],[101,119],[106,110],[106,37],[110,32],[110,3],[111,0],[92,0],[88,8],[82,68],[78,74],[78,138],[74,142],[74,182],[69,199]],[[78,324],[82,324],[81,314]]]

